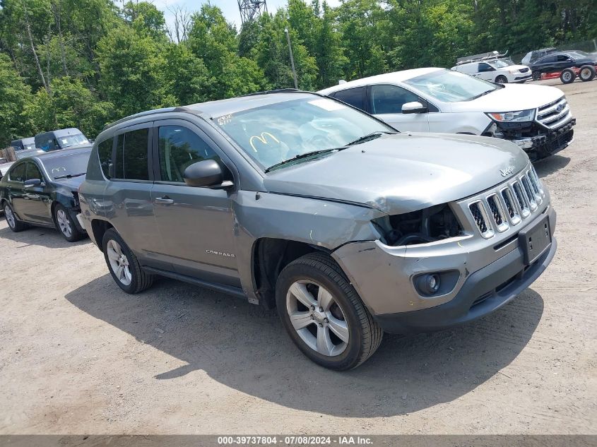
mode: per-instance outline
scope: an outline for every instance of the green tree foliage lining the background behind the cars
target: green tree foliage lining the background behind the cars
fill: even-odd
[[[183,28],[169,30],[152,1],[0,0],[0,147],[66,126],[93,137],[146,109],[293,87],[286,30],[306,90],[597,37],[595,0],[288,0],[240,29],[201,3],[177,8]]]

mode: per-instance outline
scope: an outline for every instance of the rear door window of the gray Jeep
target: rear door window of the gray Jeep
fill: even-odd
[[[126,180],[149,180],[148,171],[149,129],[122,133],[116,143],[114,178]]]

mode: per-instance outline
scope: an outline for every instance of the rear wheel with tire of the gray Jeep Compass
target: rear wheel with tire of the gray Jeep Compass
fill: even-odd
[[[112,278],[124,292],[143,292],[153,284],[153,275],[143,271],[133,251],[113,228],[105,232],[102,248]]]

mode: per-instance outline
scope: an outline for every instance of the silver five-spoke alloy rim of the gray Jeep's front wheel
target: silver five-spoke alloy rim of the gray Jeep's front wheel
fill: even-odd
[[[333,295],[311,280],[293,282],[286,294],[292,327],[307,346],[334,357],[348,346],[348,322]]]

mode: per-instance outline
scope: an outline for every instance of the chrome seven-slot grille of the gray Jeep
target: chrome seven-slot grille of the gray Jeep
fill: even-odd
[[[530,165],[506,183],[468,202],[468,210],[481,236],[490,239],[496,232],[502,233],[528,219],[544,197],[537,172]]]

